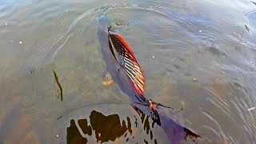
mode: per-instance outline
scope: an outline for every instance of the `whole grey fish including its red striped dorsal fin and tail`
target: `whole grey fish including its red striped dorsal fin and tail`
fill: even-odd
[[[118,87],[131,99],[130,105],[138,114],[150,116],[153,122],[161,126],[170,143],[181,143],[187,137],[201,138],[191,130],[174,122],[158,103],[146,98],[144,92],[144,77],[130,46],[122,36],[111,30],[111,22],[105,16],[99,16],[98,39],[102,56],[106,62],[106,74],[110,74]],[[160,105],[159,105],[160,106]]]

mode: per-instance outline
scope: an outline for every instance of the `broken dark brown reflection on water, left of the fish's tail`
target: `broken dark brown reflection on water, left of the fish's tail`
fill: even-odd
[[[120,118],[118,114],[111,114],[108,116],[93,110],[90,113],[90,125],[87,125],[87,119],[79,119],[78,125],[81,128],[83,134],[92,135],[92,130],[94,130],[97,142],[109,142],[116,138],[120,138],[122,135],[126,137],[127,131],[132,134],[130,118],[127,117],[126,122]],[[80,134],[78,127],[76,126],[74,119],[70,120],[70,127],[66,129],[66,142],[67,143],[86,143],[87,138],[83,138]],[[128,142],[129,138],[126,139]]]

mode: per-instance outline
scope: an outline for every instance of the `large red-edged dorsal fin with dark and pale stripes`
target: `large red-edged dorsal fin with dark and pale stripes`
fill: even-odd
[[[126,40],[121,35],[110,34],[110,47],[115,51],[113,52],[114,57],[125,70],[130,82],[133,83],[134,89],[138,94],[142,94],[144,92],[145,79],[134,57],[134,52],[130,49]]]

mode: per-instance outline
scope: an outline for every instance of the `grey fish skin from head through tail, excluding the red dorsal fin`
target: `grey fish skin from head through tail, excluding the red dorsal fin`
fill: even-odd
[[[110,20],[103,15],[99,16],[97,20],[98,40],[100,42],[102,56],[106,62],[106,70],[110,73],[114,82],[118,84],[118,87],[130,97],[130,105],[134,110],[150,115],[150,118],[164,130],[170,143],[178,144],[184,142],[188,136],[201,138],[201,136],[181,126],[178,122],[174,122],[174,120],[169,118],[156,104],[152,105],[150,100],[146,98],[143,93],[138,93],[137,90],[134,90],[133,83],[129,76],[126,74],[124,68],[120,66],[113,50],[111,50],[109,42]]]

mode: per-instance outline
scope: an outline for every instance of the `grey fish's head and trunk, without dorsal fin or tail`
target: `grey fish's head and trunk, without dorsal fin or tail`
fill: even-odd
[[[114,48],[110,48],[110,33],[114,34],[109,31],[110,26],[109,19],[104,16],[98,17],[98,39],[102,56],[106,62],[106,71],[111,75],[114,82],[118,84],[119,88],[130,97],[132,102],[143,102],[146,98],[143,94],[134,90],[134,84],[130,82],[130,77],[126,74],[124,66],[119,64],[114,55]]]

